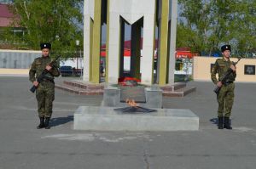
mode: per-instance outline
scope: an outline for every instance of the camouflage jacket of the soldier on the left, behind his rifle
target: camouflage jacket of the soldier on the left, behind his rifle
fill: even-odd
[[[40,76],[45,69],[46,65],[48,65],[51,62],[51,59],[49,57],[39,57],[37,59],[34,59],[31,69],[29,70],[29,80],[31,82],[36,81],[38,76]],[[54,79],[54,76],[60,76],[61,73],[58,70],[58,64],[55,62],[52,66],[52,69],[49,70],[49,73],[47,73],[45,76],[48,76],[49,78]]]

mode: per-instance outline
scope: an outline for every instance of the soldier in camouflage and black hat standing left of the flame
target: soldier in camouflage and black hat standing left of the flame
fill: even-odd
[[[50,43],[41,43],[42,57],[34,59],[32,67],[29,70],[29,80],[37,88],[36,97],[38,100],[38,116],[40,119],[40,124],[38,129],[46,128],[49,129],[49,119],[52,114],[53,101],[55,99],[55,82],[54,77],[60,76],[60,71],[58,70],[57,63],[53,63],[50,66],[49,63],[51,59],[49,58],[49,50],[51,48]],[[43,72],[43,70],[48,70],[45,75],[46,78],[43,82],[38,83],[37,78]]]

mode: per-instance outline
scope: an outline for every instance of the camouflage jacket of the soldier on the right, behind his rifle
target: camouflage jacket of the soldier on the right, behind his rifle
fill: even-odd
[[[221,76],[224,75],[224,73],[230,69],[230,65],[232,65],[233,62],[228,60],[226,61],[224,58],[222,59],[217,59],[215,64],[212,67],[212,74],[211,74],[211,78],[212,78],[212,82],[214,84],[217,84],[219,78]],[[216,74],[218,73],[218,80],[216,77]],[[232,72],[228,78],[227,81],[229,82],[234,82],[236,80],[236,72]]]

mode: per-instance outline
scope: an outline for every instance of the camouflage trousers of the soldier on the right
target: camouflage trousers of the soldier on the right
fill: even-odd
[[[232,106],[234,103],[234,97],[235,97],[234,89],[235,89],[234,83],[230,83],[227,86],[223,85],[223,87],[221,87],[217,95],[218,117],[221,117],[221,116],[230,117]]]

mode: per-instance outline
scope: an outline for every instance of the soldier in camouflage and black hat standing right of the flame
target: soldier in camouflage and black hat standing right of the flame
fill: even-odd
[[[216,84],[218,87],[221,87],[218,95],[218,129],[232,129],[230,126],[230,114],[232,110],[232,105],[234,102],[234,89],[236,80],[236,66],[233,65],[233,62],[230,61],[230,45],[224,45],[221,47],[221,52],[223,54],[222,59],[217,59],[215,64],[212,67],[212,82]],[[230,74],[224,84],[219,82],[216,78],[216,74],[218,73],[218,79],[224,75],[224,73],[232,69],[233,72]]]

